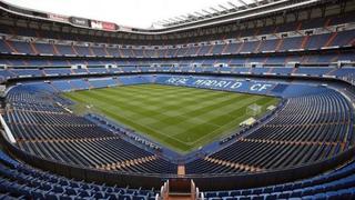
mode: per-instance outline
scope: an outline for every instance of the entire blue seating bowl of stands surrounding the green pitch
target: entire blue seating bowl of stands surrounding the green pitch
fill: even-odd
[[[38,29],[40,12],[8,13],[1,2],[0,199],[153,200],[162,182],[190,179],[209,200],[355,199],[354,11],[326,2],[318,16],[305,6],[310,13],[162,34],[79,28],[73,17],[49,14]],[[146,83],[281,101],[255,123],[180,154],[63,94]]]

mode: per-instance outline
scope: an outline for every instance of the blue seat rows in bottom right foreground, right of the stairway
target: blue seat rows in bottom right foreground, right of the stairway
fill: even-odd
[[[329,173],[283,184],[203,193],[205,199],[353,199],[354,162]]]

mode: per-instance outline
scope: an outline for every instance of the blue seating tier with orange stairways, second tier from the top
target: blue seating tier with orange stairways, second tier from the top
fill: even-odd
[[[355,30],[347,30],[334,33],[314,34],[305,37],[292,37],[283,39],[267,39],[262,41],[244,41],[229,44],[209,44],[209,46],[187,46],[168,49],[165,52],[154,53],[151,49],[138,48],[105,48],[87,47],[69,44],[44,44],[36,42],[9,41],[0,42],[0,52],[13,52],[26,54],[60,54],[60,56],[80,56],[80,57],[119,57],[119,58],[174,58],[174,57],[194,57],[212,54],[239,54],[239,53],[260,53],[268,51],[288,51],[293,49],[322,49],[324,47],[349,47],[354,46]],[[58,52],[57,52],[58,51]]]

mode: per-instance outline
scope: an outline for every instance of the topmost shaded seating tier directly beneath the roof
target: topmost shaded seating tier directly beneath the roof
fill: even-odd
[[[326,18],[315,18],[311,20],[302,20],[297,22],[288,22],[283,24],[271,24],[262,28],[253,28],[242,29],[236,31],[231,31],[229,33],[214,33],[210,36],[194,36],[194,37],[184,37],[181,39],[169,40],[165,44],[179,44],[185,42],[203,42],[203,41],[212,41],[212,40],[221,40],[221,39],[234,39],[240,37],[250,37],[257,34],[271,34],[276,32],[287,32],[295,31],[302,29],[313,29],[326,26],[336,26],[342,23],[348,23],[354,21],[354,14],[352,12],[343,13],[338,16],[331,16]],[[72,41],[91,41],[98,43],[106,43],[108,38],[105,37],[90,37],[81,33],[63,33],[58,31],[49,31],[49,30],[34,30],[31,28],[18,28],[12,26],[1,26],[0,32],[8,34],[19,34],[19,36],[28,36],[28,37],[40,37],[48,39],[58,39],[58,40],[72,40]],[[122,39],[120,38],[110,38],[110,42],[120,43]],[[160,46],[162,41],[160,39],[155,40],[128,40],[125,44],[152,44]]]

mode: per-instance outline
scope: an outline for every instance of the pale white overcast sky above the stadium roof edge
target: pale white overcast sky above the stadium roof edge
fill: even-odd
[[[22,8],[115,22],[162,28],[196,17],[215,16],[261,0],[3,0]],[[268,0],[272,1],[272,0]]]

